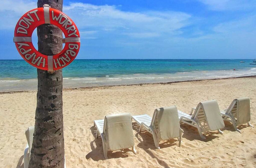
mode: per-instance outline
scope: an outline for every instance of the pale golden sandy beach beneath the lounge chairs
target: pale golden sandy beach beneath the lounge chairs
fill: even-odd
[[[176,105],[186,113],[200,101],[216,99],[220,109],[234,98],[250,97],[251,124],[256,126],[256,77],[63,89],[67,168],[84,167],[256,167],[256,128],[225,122],[224,134],[208,132],[201,140],[196,128],[181,124],[181,147],[176,140],[155,148],[150,133],[138,133],[133,122],[137,154],[131,150],[103,156],[101,138],[95,139],[93,120],[105,115],[153,115],[154,109]],[[25,130],[34,125],[36,91],[0,94],[0,167],[23,167]]]

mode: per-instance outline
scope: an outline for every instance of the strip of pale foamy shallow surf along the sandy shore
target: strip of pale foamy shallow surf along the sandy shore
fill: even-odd
[[[126,75],[106,75],[103,77],[64,77],[63,88],[74,87],[91,87],[91,86],[108,86],[108,85],[125,85],[140,83],[161,83],[188,81],[200,79],[216,79],[239,76],[256,75],[256,68],[243,70],[219,70],[219,71],[190,71],[177,72],[172,74],[126,74]],[[111,77],[109,77],[111,76]],[[36,90],[37,79],[0,79],[0,92],[3,91],[22,91]]]

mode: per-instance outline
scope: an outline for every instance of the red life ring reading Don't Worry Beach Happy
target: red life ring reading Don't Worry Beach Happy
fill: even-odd
[[[32,44],[32,33],[42,24],[58,26],[65,35],[62,40],[64,49],[53,56],[38,52]],[[42,7],[25,13],[18,21],[14,30],[14,42],[20,55],[29,64],[41,70],[54,71],[70,64],[80,49],[80,34],[74,22],[61,11]]]

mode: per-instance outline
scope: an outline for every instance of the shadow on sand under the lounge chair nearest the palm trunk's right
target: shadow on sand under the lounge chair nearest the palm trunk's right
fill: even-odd
[[[104,155],[103,155],[103,147],[102,147],[102,139],[101,137],[99,137],[98,139],[96,139],[96,131],[97,128],[92,126],[90,128],[92,135],[94,136],[94,140],[90,142],[91,145],[91,152],[89,152],[86,155],[86,159],[92,159],[94,161],[99,161],[99,160],[105,160]],[[94,143],[96,145],[96,148],[94,147]],[[130,149],[122,149],[122,150],[118,150],[118,151],[108,151],[108,158],[127,158],[127,152],[132,152],[132,150]]]

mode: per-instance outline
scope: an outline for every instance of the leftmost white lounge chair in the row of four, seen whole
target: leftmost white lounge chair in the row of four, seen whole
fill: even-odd
[[[136,154],[132,119],[129,113],[106,116],[104,120],[94,120],[97,128],[96,138],[101,136],[104,158],[108,159],[108,151],[132,148]]]

